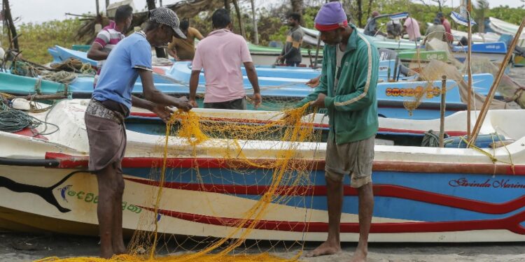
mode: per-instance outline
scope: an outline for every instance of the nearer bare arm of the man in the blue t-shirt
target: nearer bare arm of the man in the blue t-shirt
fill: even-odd
[[[185,111],[191,109],[191,105],[189,105],[188,101],[184,101],[183,99],[178,99],[173,96],[168,96],[167,94],[164,94],[156,89],[155,85],[153,85],[153,73],[151,73],[151,71],[140,68],[137,68],[137,71],[141,77],[142,89],[144,90],[144,99],[160,106],[175,106],[176,108],[180,108]],[[141,105],[148,106],[139,101],[138,106],[140,107]]]

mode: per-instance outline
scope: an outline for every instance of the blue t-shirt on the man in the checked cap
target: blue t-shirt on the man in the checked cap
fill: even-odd
[[[124,38],[111,50],[91,97],[116,101],[130,109],[132,90],[139,77],[137,68],[152,68],[151,45],[142,31]]]

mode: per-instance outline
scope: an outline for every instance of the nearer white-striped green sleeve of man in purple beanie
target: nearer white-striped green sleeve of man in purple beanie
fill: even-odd
[[[360,48],[358,65],[356,66],[356,91],[350,94],[326,97],[326,108],[335,108],[338,111],[357,111],[372,105],[377,89],[377,75],[379,71],[379,55],[374,46]],[[352,85],[348,83],[347,85]]]

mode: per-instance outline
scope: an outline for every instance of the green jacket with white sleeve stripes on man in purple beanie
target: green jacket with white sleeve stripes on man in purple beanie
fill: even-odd
[[[334,87],[337,69],[335,45],[325,45],[321,80],[297,107],[315,101],[318,94],[326,95],[325,107],[330,117],[330,135],[335,143],[344,144],[375,136],[379,129],[377,119],[377,77],[379,54],[377,48],[353,24],[341,61],[341,73]]]

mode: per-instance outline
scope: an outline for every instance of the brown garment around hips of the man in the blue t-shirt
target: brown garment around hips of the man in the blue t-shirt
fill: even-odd
[[[119,166],[126,150],[126,128],[116,119],[96,117],[85,113],[85,128],[90,144],[90,171],[106,166]]]

